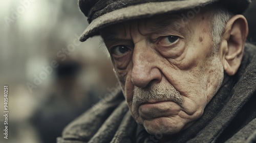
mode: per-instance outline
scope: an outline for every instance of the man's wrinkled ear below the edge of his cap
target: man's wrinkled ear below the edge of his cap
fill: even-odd
[[[236,74],[241,64],[247,35],[248,24],[243,15],[235,15],[227,21],[220,49],[224,70],[229,76]]]

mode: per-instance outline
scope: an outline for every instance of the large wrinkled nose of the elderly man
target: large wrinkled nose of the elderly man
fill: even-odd
[[[160,63],[159,63],[160,64]],[[157,54],[146,44],[137,44],[133,52],[132,82],[137,87],[146,87],[151,82],[160,82],[161,71],[157,65]]]

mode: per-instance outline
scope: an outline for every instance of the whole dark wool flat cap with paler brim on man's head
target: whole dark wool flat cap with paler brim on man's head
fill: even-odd
[[[234,14],[243,13],[250,4],[250,0],[78,0],[79,8],[90,24],[80,41],[99,35],[99,30],[114,23],[217,2]]]

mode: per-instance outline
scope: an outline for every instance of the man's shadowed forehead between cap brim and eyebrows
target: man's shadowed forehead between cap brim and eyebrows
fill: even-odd
[[[116,25],[109,26],[101,31],[103,39],[115,39],[124,36],[127,29],[131,28],[131,25],[137,25],[138,28],[142,27],[148,32],[156,32],[159,29],[169,27],[170,29],[179,30],[185,27],[187,23],[181,14],[164,14],[150,18],[131,20]]]

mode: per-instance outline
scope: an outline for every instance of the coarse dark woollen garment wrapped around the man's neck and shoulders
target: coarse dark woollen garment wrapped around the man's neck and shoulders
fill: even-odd
[[[99,102],[68,125],[58,143],[159,142],[132,117],[119,92]],[[256,47],[246,44],[236,75],[224,74],[223,83],[188,129],[168,142],[256,142]]]

